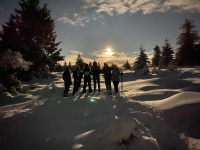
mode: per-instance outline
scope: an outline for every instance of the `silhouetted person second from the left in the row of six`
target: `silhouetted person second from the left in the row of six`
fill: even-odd
[[[73,78],[74,78],[74,88],[73,88],[73,95],[74,95],[78,91],[78,88],[80,87],[80,81],[82,78],[82,72],[79,66],[76,66],[76,69],[73,72]]]

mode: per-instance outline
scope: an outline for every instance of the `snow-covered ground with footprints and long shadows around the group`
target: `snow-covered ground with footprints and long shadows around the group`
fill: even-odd
[[[0,107],[2,150],[200,149],[200,68],[144,76],[125,70],[124,92],[106,95],[101,77],[101,93],[75,98],[62,97],[56,74],[24,83],[25,89],[37,85],[28,94],[0,94],[26,101]]]

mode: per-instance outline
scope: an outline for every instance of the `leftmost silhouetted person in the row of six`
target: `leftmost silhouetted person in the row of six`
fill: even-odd
[[[63,96],[67,97],[70,85],[72,84],[69,67],[66,67],[65,72],[63,73],[63,80],[65,81],[65,90],[63,92]]]

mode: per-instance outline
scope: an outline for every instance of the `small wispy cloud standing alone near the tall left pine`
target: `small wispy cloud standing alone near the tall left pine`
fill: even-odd
[[[61,17],[58,19],[58,21],[61,21],[62,23],[67,23],[72,26],[85,26],[85,23],[89,22],[89,18],[85,16],[81,16],[79,14],[73,15],[73,20],[68,17]]]

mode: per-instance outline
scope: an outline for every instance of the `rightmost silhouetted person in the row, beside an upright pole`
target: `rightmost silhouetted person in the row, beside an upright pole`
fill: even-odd
[[[119,85],[119,76],[123,75],[123,73],[119,71],[119,69],[117,68],[116,65],[113,65],[112,67],[113,71],[112,71],[112,81],[113,81],[113,85],[115,87],[115,93],[117,93],[119,91],[118,89],[118,85]]]

